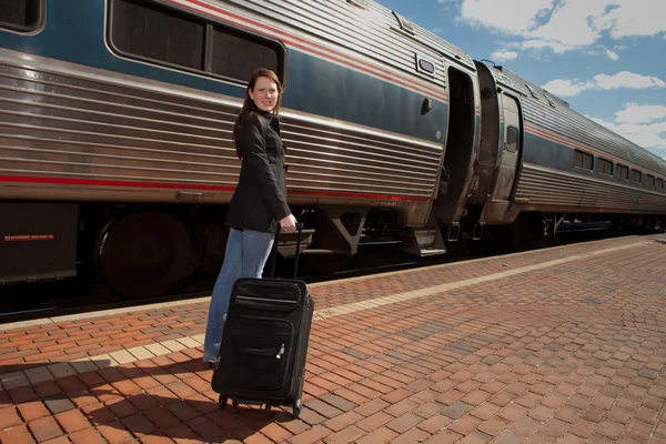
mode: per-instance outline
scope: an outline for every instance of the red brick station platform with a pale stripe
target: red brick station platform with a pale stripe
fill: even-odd
[[[205,300],[7,330],[0,442],[666,443],[657,239],[312,285],[300,420],[218,408]]]

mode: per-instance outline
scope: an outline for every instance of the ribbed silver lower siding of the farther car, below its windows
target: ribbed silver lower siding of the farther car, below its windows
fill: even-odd
[[[585,206],[604,212],[664,213],[666,195],[629,184],[613,183],[558,170],[523,164],[516,189],[517,201],[529,200],[529,206]]]

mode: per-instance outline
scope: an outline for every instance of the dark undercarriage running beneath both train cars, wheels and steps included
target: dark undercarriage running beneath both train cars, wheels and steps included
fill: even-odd
[[[1,202],[0,210],[12,215],[0,223],[0,284],[6,285],[77,278],[99,280],[123,297],[154,297],[195,275],[214,276],[228,236],[223,205]],[[501,252],[556,236],[575,223],[662,230],[655,215],[531,212],[480,231],[465,222],[467,215],[474,220],[472,213],[461,218],[457,243],[483,241]],[[450,228],[434,216],[423,228],[405,229],[392,209],[331,205],[294,209],[294,214],[305,226],[302,263],[319,275],[343,268],[360,245],[393,242],[417,256],[444,254],[452,245]],[[293,258],[295,243],[294,233],[283,233],[280,255]]]

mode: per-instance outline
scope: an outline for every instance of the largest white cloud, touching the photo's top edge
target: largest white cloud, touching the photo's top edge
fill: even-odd
[[[563,53],[598,44],[604,36],[619,41],[666,31],[664,0],[458,1],[460,21],[514,36],[514,48]],[[618,59],[616,52],[606,54]]]

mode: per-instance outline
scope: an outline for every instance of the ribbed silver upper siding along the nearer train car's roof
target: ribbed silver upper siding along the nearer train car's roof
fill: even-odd
[[[470,56],[423,28],[413,23],[413,37],[398,31],[400,26],[392,11],[373,1],[366,2],[367,10],[344,0],[230,1],[440,85],[445,84],[442,56],[475,70]],[[416,70],[415,54],[435,64],[434,78]]]

